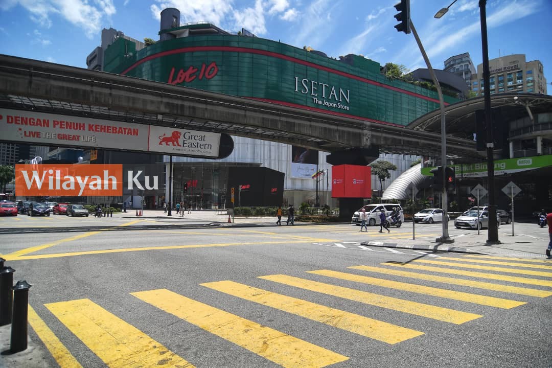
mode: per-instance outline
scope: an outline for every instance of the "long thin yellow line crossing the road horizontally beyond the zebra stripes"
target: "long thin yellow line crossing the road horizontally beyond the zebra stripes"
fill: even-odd
[[[298,240],[298,241],[295,241],[295,243],[312,243],[312,242],[323,242],[323,241],[326,241],[326,239]],[[142,248],[85,250],[83,252],[22,255],[22,256],[19,256],[19,257],[8,257],[9,255],[3,255],[2,257],[4,257],[6,260],[12,260],[13,261],[13,260],[73,257],[73,256],[76,256],[76,255],[90,255],[90,254],[140,252],[142,250],[167,250],[167,249],[210,248],[210,247],[230,247],[230,246],[257,246],[257,245],[263,245],[263,244],[288,244],[288,242],[273,241],[273,242],[251,242],[251,243],[239,242],[239,243],[190,244],[190,245],[187,245],[187,246],[160,246],[160,247],[142,247]]]

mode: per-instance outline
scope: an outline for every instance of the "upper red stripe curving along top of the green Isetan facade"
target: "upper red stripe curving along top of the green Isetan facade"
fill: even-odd
[[[247,47],[234,47],[234,46],[194,46],[194,47],[182,47],[182,48],[180,48],[180,49],[174,49],[174,50],[168,50],[168,51],[158,52],[157,54],[153,54],[153,55],[147,56],[147,57],[145,57],[145,58],[143,58],[143,59],[137,61],[136,63],[134,63],[134,65],[132,65],[132,66],[130,66],[129,68],[127,68],[126,70],[124,70],[124,71],[121,73],[121,75],[124,76],[126,73],[128,73],[129,71],[131,71],[131,70],[134,69],[135,67],[139,66],[140,64],[145,63],[146,61],[150,61],[150,60],[156,59],[156,58],[158,58],[158,57],[163,57],[163,56],[168,56],[168,55],[174,55],[174,54],[181,54],[181,53],[184,53],[184,52],[194,52],[194,51],[247,52],[247,53],[249,53],[249,54],[258,54],[258,55],[265,55],[265,56],[277,57],[277,58],[280,58],[280,59],[283,59],[283,60],[287,60],[287,61],[291,61],[291,62],[294,62],[294,63],[298,63],[298,64],[301,64],[301,65],[305,65],[305,66],[309,66],[309,67],[312,67],[312,68],[316,68],[316,69],[318,69],[318,70],[323,70],[323,71],[330,72],[330,73],[333,73],[333,74],[338,74],[339,76],[343,76],[343,77],[347,77],[347,78],[351,78],[351,79],[356,79],[357,81],[364,82],[364,83],[368,83],[368,84],[372,84],[373,86],[377,86],[377,87],[382,87],[382,88],[394,90],[395,92],[405,93],[405,94],[411,95],[411,96],[413,96],[413,97],[421,98],[421,99],[428,100],[428,101],[431,101],[431,102],[434,102],[434,103],[439,103],[439,100],[436,100],[436,99],[434,99],[434,98],[427,97],[427,96],[424,96],[424,95],[421,95],[421,94],[418,94],[418,93],[410,92],[410,91],[408,91],[408,90],[406,90],[406,89],[401,89],[401,88],[397,88],[397,87],[388,86],[387,84],[383,84],[383,83],[380,83],[380,82],[372,81],[371,79],[367,79],[367,78],[363,78],[363,77],[358,77],[358,76],[355,76],[354,74],[342,72],[342,71],[335,70],[335,69],[332,69],[332,68],[328,68],[328,67],[322,66],[322,65],[317,65],[317,64],[314,64],[314,63],[305,61],[305,60],[300,60],[300,59],[295,58],[295,57],[291,57],[291,56],[287,56],[287,55],[278,54],[277,52],[265,51],[265,50],[257,50],[257,49],[248,49]],[[445,105],[448,105],[448,103],[445,103]]]

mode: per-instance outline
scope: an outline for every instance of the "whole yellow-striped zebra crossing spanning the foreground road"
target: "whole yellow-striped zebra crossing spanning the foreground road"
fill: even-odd
[[[519,271],[516,274],[524,277],[508,275],[513,271]],[[167,289],[136,291],[130,295],[144,307],[155,307],[152,313],[177,318],[185,329],[192,326],[192,329],[212,334],[213,343],[205,349],[220,350],[217,346],[222,339],[243,349],[243,354],[255,354],[279,366],[315,368],[338,364],[354,359],[354,356],[347,356],[347,349],[343,346],[321,343],[323,340],[309,341],[309,334],[295,336],[293,328],[282,332],[278,329],[278,321],[270,319],[269,309],[288,313],[291,320],[301,318],[319,323],[322,329],[338,329],[341,333],[352,334],[356,337],[351,341],[359,344],[370,340],[387,345],[412,344],[417,339],[431,338],[431,335],[425,336],[434,332],[435,324],[449,324],[453,327],[449,330],[454,332],[455,325],[475,320],[485,323],[485,314],[490,311],[504,313],[503,318],[508,318],[513,308],[524,308],[534,298],[550,297],[551,278],[552,264],[545,260],[464,255],[413,259],[405,263],[351,265],[344,269],[306,270],[303,275],[258,275],[249,282],[222,280],[199,284],[206,291],[219,292],[225,305],[239,301],[267,308],[266,314],[254,317],[256,321]],[[433,286],[421,285],[426,281]],[[255,285],[248,285],[250,283]],[[386,295],[386,290],[394,291],[394,296]],[[397,291],[400,297],[397,297]],[[309,297],[302,297],[305,292]],[[288,293],[295,296],[286,295]],[[427,296],[424,298],[426,303],[416,301],[416,295]],[[326,301],[335,298],[336,303],[332,306],[317,303],[317,296]],[[439,302],[442,299],[448,300],[448,308]],[[359,309],[358,305],[365,307]],[[47,303],[45,307],[108,367],[210,367],[195,355],[187,356],[188,350],[175,343],[173,338],[146,328],[140,330],[124,321],[122,316],[108,311],[99,301],[84,298]],[[68,342],[66,334],[60,330],[61,325],[52,323],[50,330],[38,314],[32,308],[30,310],[31,327],[62,368],[77,364],[87,366],[82,360],[84,358],[77,355],[73,358],[71,349],[63,345]],[[386,311],[399,313],[399,316],[404,313],[405,318],[397,323],[396,318],[389,319]],[[406,314],[434,322],[414,324]],[[148,334],[156,335],[157,339]],[[194,341],[190,339],[186,343],[193,344]],[[71,362],[70,365],[67,362]]]

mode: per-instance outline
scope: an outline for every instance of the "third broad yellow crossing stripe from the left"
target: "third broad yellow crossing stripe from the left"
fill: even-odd
[[[358,314],[322,306],[298,298],[276,294],[275,292],[257,289],[256,287],[239,284],[238,282],[206,282],[200,285],[388,344],[400,343],[404,340],[423,335],[423,332],[410,328],[396,326],[395,324],[359,316]]]

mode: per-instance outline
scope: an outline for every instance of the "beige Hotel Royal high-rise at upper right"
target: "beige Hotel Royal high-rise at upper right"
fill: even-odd
[[[490,89],[493,93],[528,92],[546,94],[546,78],[539,60],[526,62],[525,55],[514,54],[489,60]],[[471,89],[483,95],[483,65],[471,79]]]

